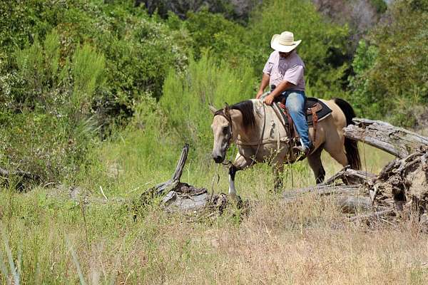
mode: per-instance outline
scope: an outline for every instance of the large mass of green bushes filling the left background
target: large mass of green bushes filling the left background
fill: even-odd
[[[0,2],[0,160],[46,179],[72,173],[96,135],[161,96],[186,36],[132,1]],[[17,131],[18,130],[18,131]],[[40,166],[40,167],[39,167]]]

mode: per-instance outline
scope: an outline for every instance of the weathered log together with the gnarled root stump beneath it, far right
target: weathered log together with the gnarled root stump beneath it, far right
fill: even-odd
[[[365,187],[373,205],[422,215],[428,206],[428,138],[381,121],[354,119],[345,136],[397,157]]]

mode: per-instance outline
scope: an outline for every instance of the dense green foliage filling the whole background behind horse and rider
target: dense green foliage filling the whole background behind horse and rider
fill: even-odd
[[[159,157],[173,165],[168,150],[185,141],[208,162],[208,103],[253,98],[270,38],[284,30],[302,39],[308,95],[345,97],[359,115],[394,114],[393,123],[405,125],[424,112],[426,0],[394,1],[355,56],[352,41],[374,22],[329,19],[322,11],[330,1],[254,1],[263,3],[245,25],[228,1],[213,1],[223,7],[217,10],[194,1],[197,8],[178,15],[172,2],[159,2],[158,14],[146,2],[0,1],[0,167],[70,178],[108,138],[118,153],[116,138],[140,145],[134,157],[146,167]],[[377,13],[370,21],[386,7],[350,5],[362,2]]]

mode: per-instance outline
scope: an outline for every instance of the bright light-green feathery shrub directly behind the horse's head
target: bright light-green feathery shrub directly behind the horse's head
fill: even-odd
[[[190,61],[187,74],[168,74],[159,103],[180,144],[188,142],[198,154],[206,155],[212,144],[213,119],[208,104],[222,108],[225,103],[253,98],[254,82],[250,66],[230,68],[205,54],[200,61]]]

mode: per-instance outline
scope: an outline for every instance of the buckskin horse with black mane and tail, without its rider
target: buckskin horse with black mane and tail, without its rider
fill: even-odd
[[[352,123],[355,112],[347,101],[340,98],[320,100],[331,112],[317,123],[310,125],[310,138],[315,149],[307,155],[316,183],[324,181],[321,152],[326,150],[344,167],[360,170],[361,162],[357,142],[345,138],[344,130]],[[293,163],[302,156],[292,152],[292,135],[289,135],[285,120],[281,120],[275,105],[265,105],[261,100],[246,100],[230,107],[216,110],[214,114],[214,145],[212,157],[216,163],[225,160],[231,143],[238,145],[238,154],[229,167],[229,195],[236,197],[235,174],[238,170],[253,166],[257,162],[269,162],[275,175],[275,190],[282,187],[282,172],[285,163]],[[314,128],[315,125],[315,128]]]

